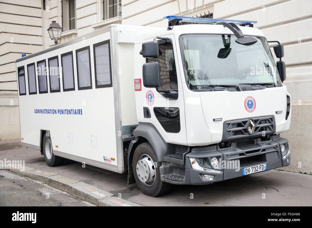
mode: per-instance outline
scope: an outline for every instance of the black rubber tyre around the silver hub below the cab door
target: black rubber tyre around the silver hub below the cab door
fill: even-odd
[[[142,181],[139,180],[136,170],[136,164],[138,163],[140,157],[144,154],[148,155],[154,162],[157,162],[157,167],[154,167],[155,169],[154,183],[150,186],[145,185]],[[172,184],[161,181],[159,173],[160,166],[161,163],[158,162],[156,153],[153,147],[149,144],[149,142],[142,143],[135,149],[132,162],[134,179],[138,187],[141,189],[141,191],[148,196],[152,197],[160,196],[167,193],[172,188]]]

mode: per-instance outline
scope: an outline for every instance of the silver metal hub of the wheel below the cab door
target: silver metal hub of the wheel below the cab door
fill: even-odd
[[[155,167],[153,160],[146,154],[143,154],[136,164],[136,173],[140,181],[150,186],[155,180]]]

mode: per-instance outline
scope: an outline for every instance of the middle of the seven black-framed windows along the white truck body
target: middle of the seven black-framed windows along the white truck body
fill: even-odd
[[[50,93],[61,92],[58,56],[48,59]]]

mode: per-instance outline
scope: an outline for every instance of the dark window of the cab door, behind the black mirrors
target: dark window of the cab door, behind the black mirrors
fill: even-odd
[[[178,78],[173,55],[173,46],[170,43],[159,44],[161,56],[157,58],[160,65],[160,87],[158,89],[178,89]],[[154,62],[154,59],[147,59]]]

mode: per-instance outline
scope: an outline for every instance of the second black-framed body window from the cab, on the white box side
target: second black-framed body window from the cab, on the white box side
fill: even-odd
[[[92,89],[90,46],[76,50],[78,90]]]

